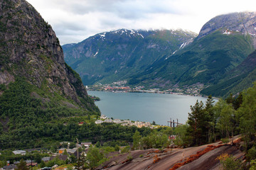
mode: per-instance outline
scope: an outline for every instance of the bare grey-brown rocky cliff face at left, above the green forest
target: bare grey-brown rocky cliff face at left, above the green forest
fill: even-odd
[[[65,64],[53,29],[25,0],[0,1],[0,69],[1,84],[24,77],[75,103],[88,99],[79,75]]]

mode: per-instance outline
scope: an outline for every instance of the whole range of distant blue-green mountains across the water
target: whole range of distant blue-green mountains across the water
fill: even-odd
[[[245,77],[252,79],[242,62],[255,51],[255,35],[255,12],[228,13],[208,21],[197,37],[183,30],[121,29],[63,45],[63,50],[85,84],[127,80],[160,89],[202,85],[202,94],[225,96],[233,88],[244,89],[235,86]],[[234,70],[241,69],[247,72],[238,77]]]

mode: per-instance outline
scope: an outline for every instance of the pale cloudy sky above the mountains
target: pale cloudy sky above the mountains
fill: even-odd
[[[120,28],[199,33],[211,18],[256,11],[255,0],[26,0],[55,30],[60,44]]]

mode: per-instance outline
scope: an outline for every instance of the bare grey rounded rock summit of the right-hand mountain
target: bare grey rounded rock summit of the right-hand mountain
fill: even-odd
[[[256,48],[256,12],[229,13],[216,16],[203,26],[198,39],[219,29],[224,29],[224,33],[227,34],[232,32],[249,34]]]

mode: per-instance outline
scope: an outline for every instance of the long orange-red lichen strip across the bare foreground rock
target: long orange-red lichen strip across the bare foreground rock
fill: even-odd
[[[175,170],[175,169],[178,169],[179,167],[185,165],[185,164],[188,164],[190,162],[193,162],[194,160],[198,159],[199,157],[201,157],[203,154],[206,154],[207,152],[210,152],[211,150],[215,149],[215,148],[218,148],[218,147],[221,147],[222,145],[218,145],[218,146],[213,146],[213,145],[208,145],[206,147],[206,149],[203,149],[203,151],[200,151],[200,152],[196,152],[196,154],[191,154],[187,159],[186,161],[184,162],[181,162],[181,163],[176,163],[174,164],[174,166],[172,166],[172,168],[170,170]]]

